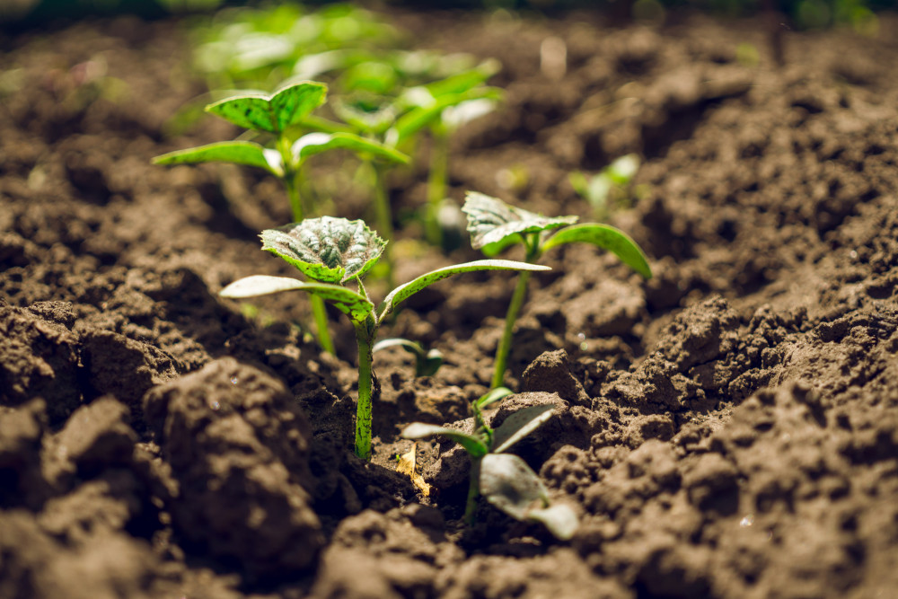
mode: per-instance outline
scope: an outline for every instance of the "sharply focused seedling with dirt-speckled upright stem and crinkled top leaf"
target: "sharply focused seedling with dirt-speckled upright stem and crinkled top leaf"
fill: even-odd
[[[226,286],[223,297],[252,297],[298,289],[321,298],[345,313],[356,330],[358,346],[358,406],[356,455],[371,459],[371,403],[374,373],[372,354],[381,324],[396,306],[439,280],[476,270],[547,270],[511,260],[476,260],[436,269],[398,286],[379,307],[368,298],[362,277],[383,253],[386,242],[364,222],[322,216],[301,223],[267,229],[260,235],[262,249],[299,269],[309,282],[292,277],[256,275]],[[356,286],[355,289],[347,285]]]

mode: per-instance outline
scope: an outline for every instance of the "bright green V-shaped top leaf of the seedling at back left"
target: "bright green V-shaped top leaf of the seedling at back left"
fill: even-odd
[[[222,119],[243,128],[280,133],[321,106],[327,94],[325,84],[303,81],[274,92],[245,92],[206,107]]]

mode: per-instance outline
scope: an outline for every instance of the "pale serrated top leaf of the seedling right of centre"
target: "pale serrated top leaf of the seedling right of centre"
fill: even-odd
[[[468,216],[468,233],[475,250],[506,243],[525,233],[540,233],[577,222],[577,216],[541,216],[477,191],[467,193],[462,212]]]

